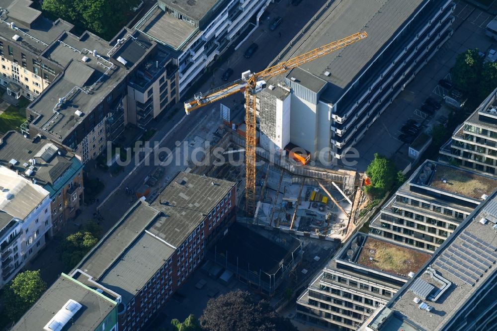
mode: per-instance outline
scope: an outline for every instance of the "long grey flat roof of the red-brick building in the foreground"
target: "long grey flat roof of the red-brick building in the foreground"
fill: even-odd
[[[172,256],[173,247],[187,239],[233,185],[226,180],[179,172],[157,198],[163,204],[139,199],[75,270],[92,276],[128,302]]]

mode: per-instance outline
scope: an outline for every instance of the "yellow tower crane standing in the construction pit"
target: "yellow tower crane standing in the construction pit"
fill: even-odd
[[[246,211],[249,216],[253,216],[255,211],[255,98],[256,94],[266,87],[266,81],[271,77],[282,74],[319,57],[330,54],[340,48],[348,46],[356,41],[367,38],[365,31],[355,33],[340,40],[333,41],[327,45],[316,48],[310,52],[297,56],[293,59],[281,62],[275,66],[264,69],[259,73],[246,71],[242,73],[242,78],[233,83],[214,88],[206,93],[196,93],[194,98],[184,103],[186,114],[191,111],[225,98],[229,95],[245,92],[245,121],[247,126],[245,160],[246,160]]]

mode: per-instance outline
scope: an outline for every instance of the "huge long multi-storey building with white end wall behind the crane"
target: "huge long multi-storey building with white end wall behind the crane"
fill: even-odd
[[[269,80],[274,89],[259,93],[261,146],[281,151],[293,143],[315,160],[343,158],[452,35],[454,7],[451,0],[327,3],[275,63],[361,30],[369,37]]]

